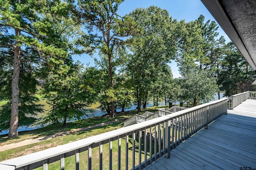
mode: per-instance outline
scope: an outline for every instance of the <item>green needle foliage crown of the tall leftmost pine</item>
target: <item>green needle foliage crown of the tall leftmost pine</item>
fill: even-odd
[[[60,49],[60,33],[54,26],[61,23],[61,16],[68,16],[70,4],[62,3],[60,0],[25,0],[21,3],[1,0],[0,4],[1,44],[10,45],[17,41],[24,49],[21,60],[37,63],[47,60],[46,57],[56,57],[55,60],[49,59],[55,63],[57,59],[67,57],[66,51]],[[20,30],[21,34],[13,35],[12,29]]]

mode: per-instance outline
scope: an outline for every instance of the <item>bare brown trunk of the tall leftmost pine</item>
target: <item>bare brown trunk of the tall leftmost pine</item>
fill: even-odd
[[[15,35],[20,35],[20,30],[15,29]],[[12,74],[12,107],[11,107],[11,120],[10,120],[10,131],[8,138],[18,136],[18,119],[19,119],[19,94],[20,90],[18,87],[20,77],[20,46],[19,41],[15,42],[14,47],[14,66]]]

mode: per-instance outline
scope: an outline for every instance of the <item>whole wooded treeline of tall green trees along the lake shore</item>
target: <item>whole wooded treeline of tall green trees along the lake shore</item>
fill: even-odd
[[[220,90],[253,90],[252,68],[218,36],[215,21],[177,21],[156,6],[120,16],[123,1],[0,0],[1,131],[10,129],[12,138],[18,126],[35,122],[65,126],[95,102],[114,117],[117,108],[137,104],[140,112],[150,100],[196,106]],[[72,60],[96,51],[94,67]],[[180,78],[172,76],[173,60]],[[40,112],[46,114],[35,119]]]

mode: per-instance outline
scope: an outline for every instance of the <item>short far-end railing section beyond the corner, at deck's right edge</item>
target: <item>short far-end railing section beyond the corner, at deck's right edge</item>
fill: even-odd
[[[239,94],[232,95],[228,98],[228,107],[234,109],[234,107],[238,106],[242,102],[246,101],[250,96],[250,92],[243,92]],[[231,106],[230,106],[231,105]]]

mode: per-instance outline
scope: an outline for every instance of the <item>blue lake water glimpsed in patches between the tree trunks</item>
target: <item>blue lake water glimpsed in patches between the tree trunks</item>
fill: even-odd
[[[220,92],[220,98],[222,99],[222,98],[224,98],[223,97],[223,92]],[[215,99],[214,99],[214,101],[215,100],[218,100],[218,93],[216,93],[216,95],[215,95]],[[164,102],[164,100],[163,101],[160,101],[160,102],[158,102],[159,103],[159,106],[165,106],[165,102]],[[179,104],[179,103],[177,103],[177,104]],[[151,101],[151,102],[149,102],[148,103],[148,105],[147,105],[147,107],[152,107],[153,106],[153,101]],[[132,107],[131,108],[129,108],[129,109],[124,109],[124,111],[130,111],[130,110],[134,110],[134,109],[136,109],[136,107],[137,107],[137,105],[132,105]],[[92,113],[90,113],[90,114],[88,114],[88,116],[85,116],[84,118],[86,119],[86,118],[89,118],[89,117],[94,117],[94,116],[101,116],[101,115],[104,115],[104,114],[106,114],[106,112],[102,112],[99,108],[93,108],[93,109],[88,109],[88,110],[91,110],[92,111]],[[117,112],[120,112],[120,111],[122,111],[122,109],[116,109],[116,111]],[[37,126],[29,126],[29,127],[26,127],[26,126],[22,126],[22,127],[19,127],[18,128],[18,132],[20,132],[20,131],[29,131],[29,130],[34,130],[34,129],[38,129],[38,128],[41,128],[42,126],[40,126],[40,125],[37,125]],[[4,135],[4,134],[8,134],[9,133],[9,130],[7,130],[7,131],[2,131],[1,133],[0,133],[0,135]]]

